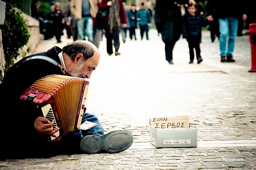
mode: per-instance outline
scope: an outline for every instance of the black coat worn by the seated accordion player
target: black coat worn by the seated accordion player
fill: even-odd
[[[31,56],[48,56],[61,64],[58,57],[58,53],[61,51],[62,49],[59,47],[53,47],[47,52]],[[63,73],[59,67],[42,59],[32,59],[22,63],[28,57],[30,56],[15,63],[5,73],[3,82],[0,84],[0,94],[2,96],[0,99],[0,135],[4,137],[0,146],[0,159],[8,156],[26,156],[33,150],[39,151],[38,148],[41,148],[41,156],[44,155],[42,149],[46,149],[45,152],[51,152],[51,149],[47,149],[47,144],[45,144],[47,143],[46,136],[39,135],[34,129],[35,118],[42,115],[34,110],[35,108],[27,107],[27,104],[21,101],[20,96],[36,80],[46,75],[63,75]],[[28,148],[31,148],[31,150]]]

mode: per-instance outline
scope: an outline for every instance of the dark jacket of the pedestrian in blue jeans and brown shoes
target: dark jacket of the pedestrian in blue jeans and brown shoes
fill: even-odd
[[[207,15],[216,13],[216,18],[227,17],[241,18],[243,14],[248,14],[248,3],[235,3],[233,0],[210,0],[206,12]]]

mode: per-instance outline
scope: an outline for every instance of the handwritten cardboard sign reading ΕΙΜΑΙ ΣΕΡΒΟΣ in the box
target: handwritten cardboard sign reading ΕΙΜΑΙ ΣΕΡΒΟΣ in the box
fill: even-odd
[[[189,128],[188,116],[150,118],[150,125],[160,129]]]

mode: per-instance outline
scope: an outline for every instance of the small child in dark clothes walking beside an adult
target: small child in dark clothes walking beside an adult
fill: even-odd
[[[196,51],[197,63],[203,61],[201,57],[200,43],[202,27],[206,26],[203,15],[196,13],[197,8],[194,5],[188,5],[188,13],[183,15],[182,37],[188,41],[190,61],[194,61],[194,49]]]

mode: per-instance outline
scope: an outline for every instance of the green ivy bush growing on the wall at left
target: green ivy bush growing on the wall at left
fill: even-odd
[[[17,59],[19,49],[28,43],[30,35],[26,21],[21,16],[22,11],[15,11],[15,5],[6,3],[5,22],[2,29],[2,42],[5,54],[6,72]],[[2,81],[2,78],[1,78]]]

